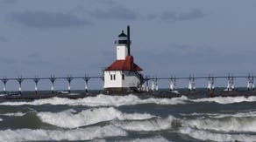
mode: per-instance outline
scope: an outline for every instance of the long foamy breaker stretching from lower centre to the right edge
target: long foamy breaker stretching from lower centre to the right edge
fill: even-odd
[[[239,117],[245,114],[243,117]],[[161,131],[180,127],[189,127],[203,131],[214,132],[256,132],[256,118],[254,112],[236,114],[224,114],[216,118],[175,118],[169,115],[167,118],[145,118],[141,120],[126,119],[124,121],[112,121],[112,125],[127,131]]]

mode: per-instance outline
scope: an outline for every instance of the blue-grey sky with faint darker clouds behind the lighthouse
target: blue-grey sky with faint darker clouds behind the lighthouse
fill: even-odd
[[[132,55],[146,75],[256,74],[255,6],[254,0],[0,0],[0,77],[101,75],[127,24]]]

